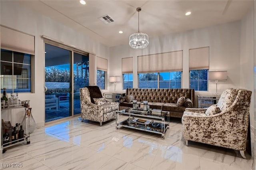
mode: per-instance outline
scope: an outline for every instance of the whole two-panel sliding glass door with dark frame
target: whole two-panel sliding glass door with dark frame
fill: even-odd
[[[45,123],[81,113],[80,88],[89,85],[89,54],[45,40]]]

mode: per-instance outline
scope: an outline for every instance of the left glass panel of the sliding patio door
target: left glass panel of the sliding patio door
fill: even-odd
[[[45,122],[70,117],[72,51],[45,44]]]

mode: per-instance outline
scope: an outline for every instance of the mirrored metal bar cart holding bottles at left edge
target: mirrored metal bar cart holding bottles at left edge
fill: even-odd
[[[10,110],[10,109],[19,109],[19,108],[24,108],[26,109],[27,106],[29,106],[29,102],[30,100],[26,100],[26,101],[6,101],[6,102],[2,102],[1,103],[1,114],[3,114],[4,110]],[[14,146],[17,144],[20,144],[22,142],[26,142],[26,144],[30,144],[30,126],[28,125],[28,115],[24,116],[24,119],[26,121],[26,127],[23,127],[24,129],[26,129],[26,133],[24,133],[24,137],[23,138],[19,138],[18,140],[15,140],[15,143],[13,141],[8,143],[4,143],[3,144],[3,133],[1,136],[1,148],[2,148],[2,153],[6,152],[6,148],[10,147],[10,146]],[[2,126],[2,123],[1,123]],[[1,128],[1,130],[3,130],[3,127]],[[5,145],[5,146],[4,146]]]

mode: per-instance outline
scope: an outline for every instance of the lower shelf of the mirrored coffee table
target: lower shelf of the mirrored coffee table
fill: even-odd
[[[125,119],[124,121],[121,121],[120,123],[116,124],[116,129],[121,128],[121,127],[126,127],[126,128],[132,128],[136,130],[141,130],[141,131],[146,131],[146,132],[151,132],[151,133],[157,133],[162,135],[162,139],[164,140],[164,134],[166,130],[169,128],[169,124],[164,124],[160,122],[154,122],[152,123],[158,123],[162,126],[162,128],[155,128],[152,127],[152,125],[143,125],[143,124],[138,124],[138,123],[127,123],[128,119]]]

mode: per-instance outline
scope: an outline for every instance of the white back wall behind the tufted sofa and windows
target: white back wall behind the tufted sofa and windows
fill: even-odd
[[[189,88],[188,50],[210,46],[210,71],[228,71],[228,80],[219,81],[218,93],[228,87],[240,87],[240,34],[241,22],[212,26],[187,32],[150,38],[145,49],[132,49],[128,43],[110,48],[110,75],[122,75],[122,58],[134,57],[134,87],[137,87],[138,55],[183,50],[182,88]],[[150,35],[149,35],[150,36]],[[110,87],[112,87],[110,85]],[[215,81],[209,82],[208,91],[196,91],[195,95],[216,93]],[[110,88],[110,91],[112,89]],[[117,90],[122,90],[122,83],[117,83]]]

